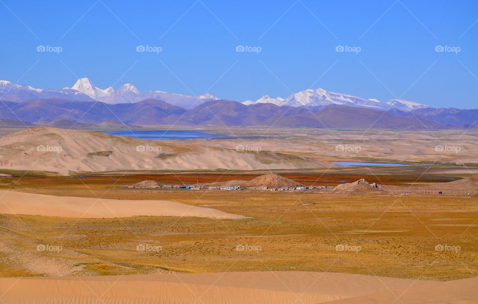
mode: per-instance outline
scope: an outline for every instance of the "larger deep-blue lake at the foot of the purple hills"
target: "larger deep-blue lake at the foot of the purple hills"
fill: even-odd
[[[201,130],[117,130],[100,132],[144,139],[229,138],[225,134],[213,134]]]

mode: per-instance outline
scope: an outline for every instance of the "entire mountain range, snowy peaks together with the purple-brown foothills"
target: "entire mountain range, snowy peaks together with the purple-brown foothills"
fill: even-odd
[[[5,125],[55,122],[75,127],[111,120],[134,125],[441,129],[475,127],[478,109],[435,108],[403,100],[381,102],[323,89],[241,103],[210,94],[141,93],[132,84],[103,90],[82,78],[71,88],[60,90],[0,81],[0,119]]]

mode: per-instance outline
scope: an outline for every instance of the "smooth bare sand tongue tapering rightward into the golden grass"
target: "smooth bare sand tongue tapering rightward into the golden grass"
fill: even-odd
[[[0,190],[0,213],[111,218],[135,215],[243,218],[241,215],[171,201],[128,201],[57,197]]]

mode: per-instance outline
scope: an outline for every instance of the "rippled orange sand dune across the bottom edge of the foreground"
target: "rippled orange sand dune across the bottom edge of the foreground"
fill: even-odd
[[[0,278],[0,299],[4,303],[463,304],[478,302],[477,284],[477,278],[424,282],[320,272]]]

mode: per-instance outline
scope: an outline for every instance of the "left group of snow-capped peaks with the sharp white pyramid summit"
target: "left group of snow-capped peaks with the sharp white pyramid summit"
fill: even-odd
[[[81,78],[71,87],[61,90],[35,89],[30,86],[14,85],[8,81],[0,81],[0,99],[6,101],[22,102],[31,99],[66,99],[71,101],[102,101],[105,103],[133,103],[145,99],[158,99],[174,105],[194,107],[204,101],[217,100],[216,97],[207,93],[194,97],[167,93],[161,91],[139,92],[132,84],[120,86],[117,90],[109,87],[105,90],[97,88],[88,78]]]

